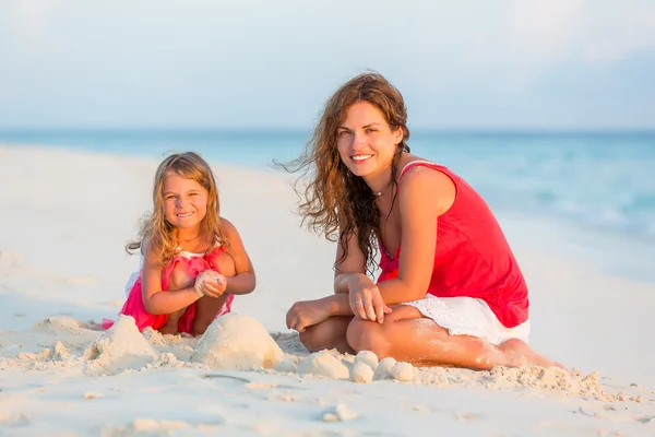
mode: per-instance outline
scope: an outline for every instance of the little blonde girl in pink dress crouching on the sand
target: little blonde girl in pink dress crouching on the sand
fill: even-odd
[[[142,269],[120,314],[132,316],[142,331],[204,333],[230,311],[235,295],[254,290],[255,276],[239,233],[219,216],[218,190],[207,163],[186,152],[168,156],[157,168],[153,212],[139,239]],[[114,324],[103,321],[103,328]]]

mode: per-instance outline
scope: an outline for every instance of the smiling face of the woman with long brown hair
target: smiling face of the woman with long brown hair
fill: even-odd
[[[380,109],[362,101],[348,108],[336,135],[343,163],[354,175],[368,178],[391,167],[403,129],[391,130]]]

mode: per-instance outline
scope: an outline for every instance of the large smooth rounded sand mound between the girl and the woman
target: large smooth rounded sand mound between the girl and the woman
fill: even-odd
[[[283,356],[263,324],[229,314],[210,324],[190,359],[215,369],[252,369],[274,368]]]

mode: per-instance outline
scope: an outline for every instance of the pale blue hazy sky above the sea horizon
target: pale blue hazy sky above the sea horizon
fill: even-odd
[[[0,129],[306,129],[365,69],[413,128],[653,129],[655,1],[0,2]]]

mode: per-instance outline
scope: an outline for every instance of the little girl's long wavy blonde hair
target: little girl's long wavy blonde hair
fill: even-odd
[[[207,211],[200,223],[200,232],[201,234],[206,235],[209,233],[213,235],[214,243],[227,245],[222,232],[218,189],[210,165],[196,153],[176,153],[159,164],[155,174],[153,210],[144,216],[139,238],[129,241],[126,246],[126,250],[133,253],[133,251],[141,249],[142,244],[147,239],[162,265],[170,262],[178,249],[177,228],[168,223],[164,216],[164,193],[162,192],[166,177],[171,173],[195,180],[207,190]]]

